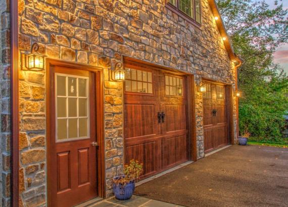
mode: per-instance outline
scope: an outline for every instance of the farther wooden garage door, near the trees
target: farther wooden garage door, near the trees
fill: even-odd
[[[203,93],[205,153],[228,144],[225,86],[205,82]]]

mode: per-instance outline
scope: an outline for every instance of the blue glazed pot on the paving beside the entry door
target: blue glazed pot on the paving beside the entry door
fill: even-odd
[[[123,176],[116,176],[114,179],[120,178]],[[135,189],[135,182],[130,181],[129,183],[122,185],[122,184],[115,184],[113,183],[113,192],[117,199],[119,200],[127,200],[132,197]]]

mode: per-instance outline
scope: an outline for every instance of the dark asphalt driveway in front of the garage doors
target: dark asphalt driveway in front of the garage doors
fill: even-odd
[[[288,206],[288,149],[233,145],[135,194],[184,206]]]

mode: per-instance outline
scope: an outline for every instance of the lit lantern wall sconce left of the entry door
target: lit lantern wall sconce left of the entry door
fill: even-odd
[[[32,44],[30,54],[21,54],[21,69],[31,70],[31,71],[41,71],[44,70],[44,58],[45,56],[37,53],[39,49],[38,43]]]

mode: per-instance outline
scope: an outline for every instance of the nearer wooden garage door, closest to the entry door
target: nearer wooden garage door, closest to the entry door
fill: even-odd
[[[146,178],[187,161],[185,77],[126,64],[125,163]]]

